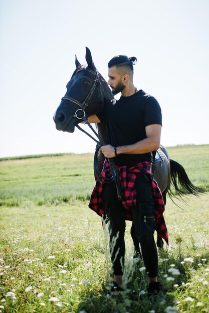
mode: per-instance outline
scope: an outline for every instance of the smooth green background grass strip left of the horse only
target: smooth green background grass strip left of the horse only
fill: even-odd
[[[62,155],[0,162],[0,205],[31,206],[88,199],[93,155]]]

